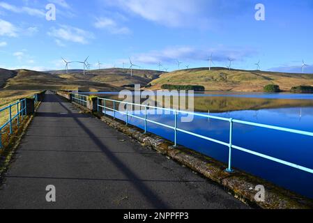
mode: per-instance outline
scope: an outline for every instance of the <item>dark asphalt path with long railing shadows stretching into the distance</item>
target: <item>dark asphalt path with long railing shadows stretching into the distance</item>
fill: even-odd
[[[0,208],[248,207],[48,92],[2,180]]]

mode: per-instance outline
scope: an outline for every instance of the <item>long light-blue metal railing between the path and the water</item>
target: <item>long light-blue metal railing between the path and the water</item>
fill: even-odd
[[[107,107],[107,102],[113,102],[113,108]],[[119,110],[116,109],[116,104],[119,104],[119,103],[123,104],[123,105],[126,105],[126,107],[128,107],[127,105],[137,106],[137,107],[140,107],[140,108],[144,107],[144,118],[142,118],[140,116],[135,116],[134,114],[130,114],[130,111],[128,111],[128,109],[126,109],[126,112],[120,112]],[[167,109],[167,108],[162,108],[162,107],[153,107],[153,106],[148,106],[148,105],[139,105],[139,104],[135,104],[135,103],[131,103],[131,102],[122,102],[122,101],[119,101],[119,100],[111,100],[111,99],[107,99],[107,98],[98,98],[98,106],[97,107],[98,107],[98,112],[100,112],[100,108],[101,108],[102,112],[104,114],[107,114],[107,110],[112,111],[113,112],[112,116],[113,116],[114,119],[116,118],[116,112],[118,112],[119,114],[125,115],[126,116],[126,118],[125,118],[126,125],[128,125],[128,118],[129,117],[137,118],[139,120],[144,121],[144,132],[145,133],[148,132],[147,123],[153,123],[155,125],[160,125],[162,127],[174,130],[174,146],[177,146],[177,134],[178,134],[178,132],[183,132],[185,134],[190,134],[190,135],[192,135],[194,137],[198,137],[198,138],[201,138],[201,139],[206,139],[208,141],[213,141],[216,144],[221,144],[223,146],[227,146],[229,148],[229,161],[228,161],[228,168],[226,169],[227,172],[232,172],[233,171],[232,168],[231,168],[231,152],[232,152],[233,149],[236,149],[238,151],[243,151],[244,153],[249,153],[249,154],[252,154],[252,155],[256,155],[258,157],[263,157],[266,160],[271,160],[273,162],[284,164],[284,165],[287,165],[289,167],[300,169],[302,171],[306,171],[308,173],[313,174],[313,169],[310,169],[310,168],[307,168],[307,167],[303,167],[303,166],[300,166],[298,164],[293,164],[291,162],[280,160],[280,159],[277,159],[275,157],[271,157],[269,155],[265,155],[265,154],[262,154],[262,153],[257,153],[255,151],[252,151],[252,150],[249,150],[249,149],[242,148],[240,146],[234,145],[233,144],[233,125],[234,125],[234,123],[240,123],[240,124],[243,124],[243,125],[251,125],[251,126],[256,126],[256,127],[259,127],[259,128],[266,128],[266,129],[270,129],[270,130],[291,132],[291,133],[294,133],[294,134],[301,134],[301,135],[305,135],[305,136],[309,136],[309,137],[313,137],[313,132],[305,132],[305,131],[301,131],[301,130],[293,130],[293,129],[289,129],[289,128],[281,128],[281,127],[277,127],[277,126],[273,126],[273,125],[264,125],[264,124],[252,123],[252,122],[248,122],[248,121],[240,121],[240,120],[236,120],[236,119],[233,119],[233,118],[222,118],[222,117],[211,116],[211,115],[206,115],[206,114],[197,114],[197,113],[194,113],[194,112],[180,111],[180,110],[176,110],[176,109]],[[148,119],[147,118],[147,109],[162,109],[163,111],[173,112],[174,116],[175,116],[175,120],[174,120],[175,124],[174,124],[174,126],[167,125],[167,124],[164,124],[164,123],[159,123],[157,121],[152,121],[152,120]],[[182,130],[182,129],[178,128],[178,125],[177,125],[178,114],[191,114],[191,115],[194,115],[194,116],[200,116],[200,117],[205,117],[205,118],[212,118],[212,119],[216,119],[216,120],[220,120],[220,121],[227,121],[227,122],[229,122],[229,141],[224,142],[224,141],[220,141],[220,140],[217,140],[217,139],[212,139],[210,137],[206,137],[206,136],[201,135],[201,134],[196,134],[194,132],[190,132],[190,131]]]

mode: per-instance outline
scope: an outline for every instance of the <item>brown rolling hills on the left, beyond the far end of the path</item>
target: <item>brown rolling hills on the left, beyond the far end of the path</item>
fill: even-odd
[[[80,91],[120,91],[133,84],[146,86],[158,78],[161,72],[153,70],[128,70],[119,68],[91,70],[83,75],[82,70],[37,72],[33,70],[0,70],[0,83],[6,90],[64,89]]]

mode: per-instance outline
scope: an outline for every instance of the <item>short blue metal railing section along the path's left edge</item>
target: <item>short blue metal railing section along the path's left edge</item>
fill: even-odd
[[[13,112],[14,107],[16,106],[16,112]],[[4,123],[3,125],[1,125],[0,127],[0,148],[3,147],[2,145],[2,130],[4,128],[6,128],[7,126],[10,129],[10,134],[13,134],[13,122],[17,121],[17,126],[20,126],[20,118],[24,118],[24,116],[26,116],[27,112],[26,112],[26,99],[22,99],[18,102],[15,102],[11,105],[8,105],[6,107],[3,107],[0,109],[0,114],[3,112],[8,112],[8,121],[6,121],[6,123]],[[14,113],[14,114],[13,114]]]

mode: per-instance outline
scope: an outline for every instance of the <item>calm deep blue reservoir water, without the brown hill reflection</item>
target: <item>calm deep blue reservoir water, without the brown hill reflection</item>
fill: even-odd
[[[214,97],[221,95],[223,97],[270,97],[293,100],[313,100],[313,95],[303,94],[238,93],[231,95],[223,93],[214,95],[197,94],[197,97]],[[108,114],[112,115],[112,113]],[[313,106],[302,108],[288,107],[278,109],[259,109],[257,111],[241,110],[213,115],[313,132]],[[144,117],[143,115],[139,116]],[[125,121],[125,116],[121,114],[116,114],[116,117]],[[174,126],[173,114],[153,114],[148,115],[148,118]],[[178,120],[180,120],[180,118],[178,118]],[[137,118],[129,118],[129,123],[144,129],[144,121],[140,121]],[[178,128],[227,143],[229,141],[229,122],[227,121],[217,121],[194,116],[194,121],[191,123],[181,123],[181,121],[179,121]],[[174,141],[174,131],[160,127],[159,125],[148,123],[148,132],[158,134],[161,137]],[[233,134],[234,145],[236,146],[241,146],[252,151],[277,157],[281,160],[293,162],[303,167],[313,169],[313,137],[280,132],[277,130],[267,130],[236,123],[234,124]],[[178,132],[178,144],[192,148],[194,151],[198,151],[224,163],[228,162],[229,150],[227,146],[215,144],[211,141],[199,139],[181,132]],[[308,174],[304,171],[293,169],[292,167],[286,167],[282,164],[236,150],[233,150],[232,163],[233,167],[236,169],[241,169],[250,174],[254,174],[255,176],[269,180],[276,185],[280,185],[313,199],[313,174]]]

